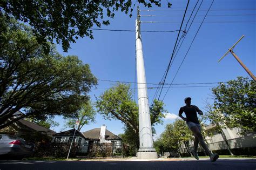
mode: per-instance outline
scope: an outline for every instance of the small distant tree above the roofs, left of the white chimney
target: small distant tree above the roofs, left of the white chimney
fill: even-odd
[[[88,125],[90,123],[95,122],[95,115],[96,112],[93,108],[91,101],[87,101],[86,103],[82,104],[81,108],[77,111],[76,118],[65,118],[65,126],[66,127],[76,127],[76,121],[79,121],[77,126],[77,130],[80,131],[84,125]]]

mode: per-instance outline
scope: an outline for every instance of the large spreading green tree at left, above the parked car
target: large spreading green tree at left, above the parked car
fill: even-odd
[[[1,12],[0,29],[0,129],[25,117],[75,117],[97,84],[89,65],[54,46],[45,53],[28,26]],[[16,115],[21,109],[25,114]]]

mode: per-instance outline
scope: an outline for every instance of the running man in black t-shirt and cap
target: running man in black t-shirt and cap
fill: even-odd
[[[204,148],[205,152],[210,157],[211,161],[214,162],[219,158],[219,155],[217,153],[211,154],[208,146],[205,144],[203,135],[201,134],[201,126],[198,121],[197,112],[199,115],[203,115],[203,112],[194,105],[191,105],[191,98],[187,97],[184,99],[186,106],[180,107],[179,110],[179,117],[186,121],[188,128],[193,132],[194,135],[194,149],[191,151],[194,158],[197,160],[198,154],[197,154],[197,148],[198,144],[200,143],[200,146]],[[185,112],[186,118],[182,116],[182,113]]]

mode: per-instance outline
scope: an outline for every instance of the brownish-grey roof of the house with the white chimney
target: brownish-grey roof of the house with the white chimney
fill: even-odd
[[[91,140],[99,140],[99,136],[100,136],[100,128],[93,128],[90,131],[86,131],[83,132],[83,135],[85,138],[89,138]],[[113,134],[112,132],[106,130],[105,133],[105,139],[106,140],[122,140],[120,137],[118,137],[117,135]]]

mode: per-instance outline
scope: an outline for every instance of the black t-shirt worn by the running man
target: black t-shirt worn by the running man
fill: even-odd
[[[186,122],[192,121],[195,124],[199,124],[198,117],[197,117],[197,112],[199,111],[200,111],[199,108],[194,105],[191,105],[191,107],[183,106],[183,107],[180,107],[180,110],[179,110],[179,112],[181,113],[185,112],[186,118],[187,118]]]

